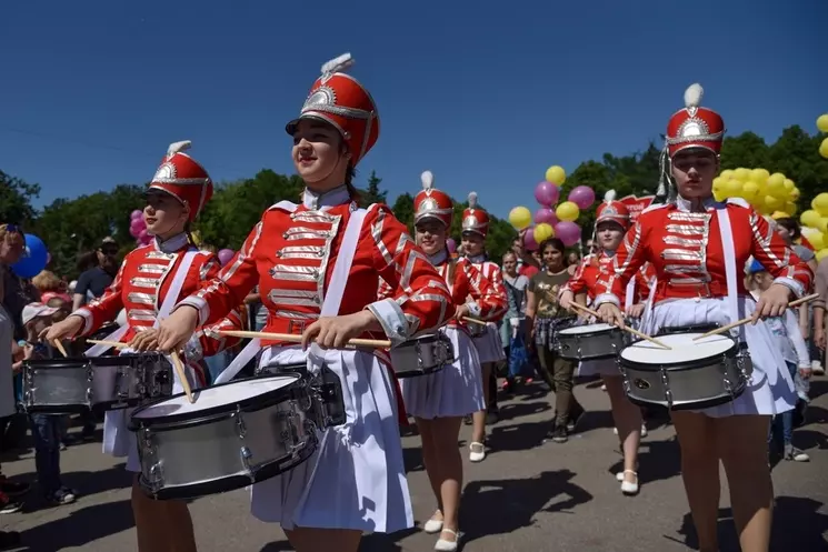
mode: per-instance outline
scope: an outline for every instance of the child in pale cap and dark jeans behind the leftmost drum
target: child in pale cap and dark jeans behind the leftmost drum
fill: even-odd
[[[43,303],[29,303],[23,309],[22,322],[27,340],[22,343],[23,359],[12,365],[14,371],[22,369],[30,359],[48,358],[48,349],[39,342],[38,335],[54,323],[52,317],[60,317],[60,309]],[[47,502],[51,505],[71,504],[77,491],[63,486],[60,479],[60,441],[63,433],[63,414],[33,413],[29,415],[34,436],[34,466],[38,484]]]

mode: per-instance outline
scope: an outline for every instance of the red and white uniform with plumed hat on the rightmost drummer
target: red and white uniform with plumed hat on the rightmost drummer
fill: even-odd
[[[715,111],[700,107],[701,87],[685,94],[685,109],[667,127],[666,153],[672,158],[686,149],[702,149],[718,155],[725,122]],[[725,325],[749,315],[755,309],[744,285],[744,270],[756,258],[796,295],[808,289],[810,269],[774,232],[767,221],[738,199],[716,202],[712,198],[675,201],[646,209],[627,232],[612,263],[596,284],[596,304],[620,298],[627,282],[649,262],[656,273],[651,315],[644,331],[699,324]],[[748,390],[735,401],[705,409],[708,415],[775,414],[794,407],[796,394],[785,361],[767,327],[742,325],[754,362]],[[781,380],[781,381],[780,381]]]

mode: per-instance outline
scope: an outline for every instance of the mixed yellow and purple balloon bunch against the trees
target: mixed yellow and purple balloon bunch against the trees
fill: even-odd
[[[526,230],[523,245],[529,251],[549,238],[560,239],[566,247],[572,247],[581,238],[581,229],[576,224],[581,209],[589,209],[595,203],[595,191],[588,185],[578,185],[569,192],[567,201],[558,203],[560,185],[567,174],[559,165],[546,171],[546,180],[535,187],[535,199],[540,208],[532,215],[526,207],[516,207],[509,212],[509,222],[516,230]],[[556,207],[557,204],[557,207]],[[532,227],[535,221],[535,227]]]

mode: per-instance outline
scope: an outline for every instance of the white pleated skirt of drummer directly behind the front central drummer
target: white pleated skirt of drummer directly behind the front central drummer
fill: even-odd
[[[406,412],[417,418],[461,416],[486,409],[480,360],[471,338],[457,328],[442,331],[455,348],[455,362],[428,375],[400,380]]]

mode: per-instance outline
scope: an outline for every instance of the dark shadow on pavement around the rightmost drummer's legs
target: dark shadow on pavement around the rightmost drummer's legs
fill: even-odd
[[[828,532],[828,515],[818,512],[821,506],[822,502],[814,499],[777,496],[770,550],[828,552],[824,536]],[[684,536],[679,542],[698,550],[699,541],[689,513],[685,514],[678,533]],[[719,509],[718,535],[720,552],[739,552],[739,536],[729,508]],[[668,535],[665,538],[676,540]]]

